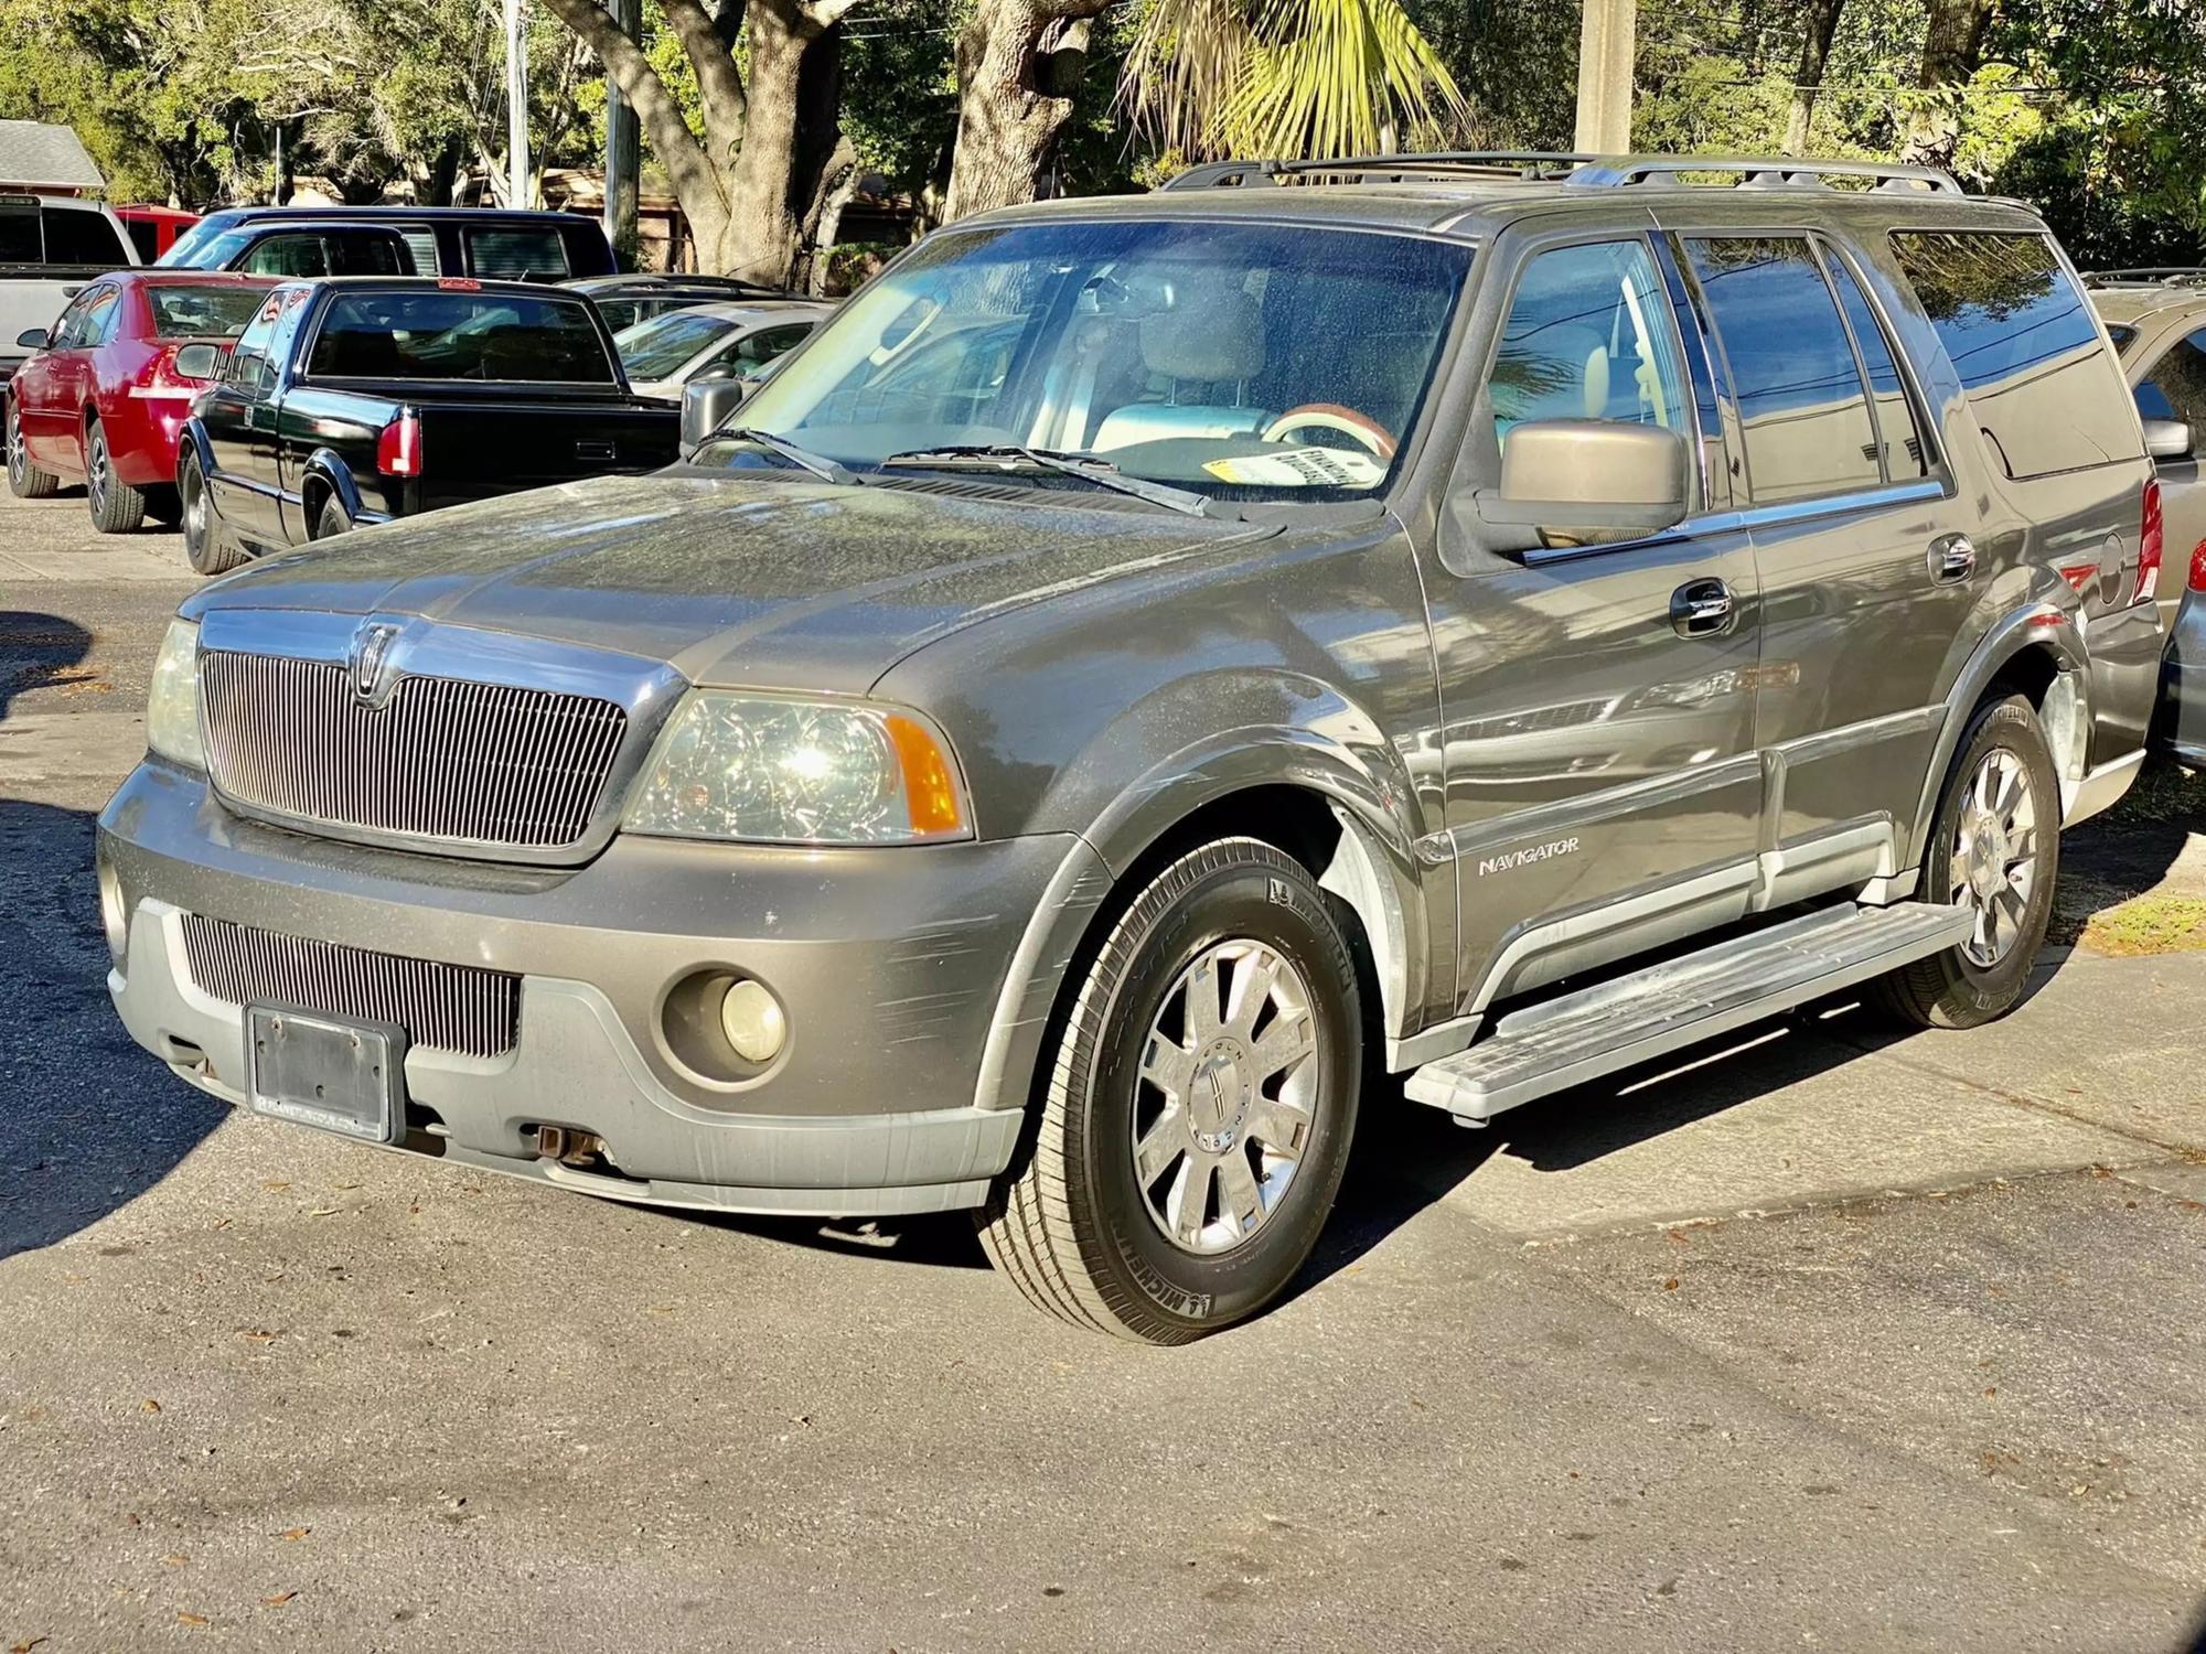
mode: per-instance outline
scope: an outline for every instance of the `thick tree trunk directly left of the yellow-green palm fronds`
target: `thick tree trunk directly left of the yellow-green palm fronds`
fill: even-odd
[[[977,0],[957,33],[957,150],[944,223],[1032,201],[1072,117],[1085,22],[1110,0]]]

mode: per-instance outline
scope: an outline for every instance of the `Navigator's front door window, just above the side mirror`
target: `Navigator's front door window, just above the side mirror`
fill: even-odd
[[[1493,359],[1493,426],[1621,419],[1685,430],[1670,300],[1643,243],[1557,247],[1524,267]]]

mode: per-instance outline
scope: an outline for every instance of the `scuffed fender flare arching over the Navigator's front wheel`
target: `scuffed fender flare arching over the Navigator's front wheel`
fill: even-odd
[[[1381,750],[1394,756],[1392,748]],[[1383,1028],[1390,1037],[1403,1032],[1425,1001],[1429,970],[1407,774],[1374,772],[1357,750],[1306,726],[1233,730],[1143,772],[1059,862],[997,992],[977,1107],[1026,1107],[1065,975],[1125,873],[1196,812],[1260,787],[1293,787],[1330,807],[1341,836],[1330,864],[1319,869],[1319,887],[1357,911],[1379,977]]]

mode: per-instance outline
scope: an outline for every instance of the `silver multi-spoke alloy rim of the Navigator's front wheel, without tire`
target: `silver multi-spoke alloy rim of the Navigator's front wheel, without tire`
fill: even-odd
[[[1302,1169],[1321,1063],[1310,986],[1275,948],[1204,948],[1158,1003],[1134,1105],[1134,1180],[1185,1253],[1255,1235]]]

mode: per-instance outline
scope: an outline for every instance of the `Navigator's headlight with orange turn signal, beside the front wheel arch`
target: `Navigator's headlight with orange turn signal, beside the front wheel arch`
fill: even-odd
[[[915,712],[719,690],[675,708],[622,825],[761,845],[973,836],[949,743]]]

